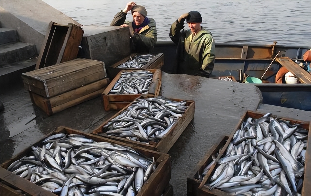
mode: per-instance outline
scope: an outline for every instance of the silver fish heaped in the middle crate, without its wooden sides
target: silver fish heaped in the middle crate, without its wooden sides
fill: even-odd
[[[186,101],[164,97],[137,99],[122,114],[111,119],[103,132],[148,143],[163,138],[187,108]]]

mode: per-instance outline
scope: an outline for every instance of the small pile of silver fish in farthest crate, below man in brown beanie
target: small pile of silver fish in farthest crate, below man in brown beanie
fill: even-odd
[[[120,64],[117,68],[135,68],[140,69],[144,65],[146,65],[153,57],[157,54],[143,54],[143,55],[135,55],[134,57],[130,57],[128,61]]]

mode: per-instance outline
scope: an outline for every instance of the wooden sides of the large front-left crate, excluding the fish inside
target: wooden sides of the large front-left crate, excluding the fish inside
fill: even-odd
[[[130,144],[125,144],[123,142],[114,141],[108,138],[103,138],[90,133],[85,133],[82,131],[74,130],[67,127],[59,127],[56,131],[48,134],[52,135],[55,133],[67,133],[67,134],[79,134],[84,135],[86,138],[90,138],[96,142],[109,142],[124,146],[130,146],[134,150],[142,153],[143,155],[156,159],[156,170],[150,175],[149,179],[144,183],[141,190],[138,192],[137,196],[154,195],[160,196],[163,194],[165,187],[168,185],[171,178],[171,158],[167,154],[160,152],[151,151],[141,147],[133,146]],[[33,146],[38,146],[41,144],[40,141],[33,144]],[[24,151],[20,152],[12,159],[4,162],[0,167],[0,180],[5,181],[7,184],[17,187],[18,189],[32,195],[32,196],[56,196],[55,194],[42,189],[40,186],[21,178],[18,175],[12,174],[10,171],[6,170],[8,166],[14,161],[21,159],[23,156],[28,155],[32,151],[31,147],[26,148]]]

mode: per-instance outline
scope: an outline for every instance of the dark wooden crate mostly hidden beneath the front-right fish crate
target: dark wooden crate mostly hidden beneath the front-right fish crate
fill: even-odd
[[[208,173],[203,177],[203,180],[198,179],[198,173],[202,175],[204,168],[209,165],[213,159],[212,155],[219,153],[220,149],[223,149],[229,136],[220,136],[217,142],[207,151],[203,159],[197,164],[193,173],[187,177],[187,196],[197,196],[198,188],[202,181],[205,180],[205,177],[208,176]]]

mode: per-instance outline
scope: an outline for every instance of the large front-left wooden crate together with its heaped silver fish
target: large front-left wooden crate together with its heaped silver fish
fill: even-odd
[[[158,195],[170,157],[66,127],[1,165],[1,180],[28,195]]]

